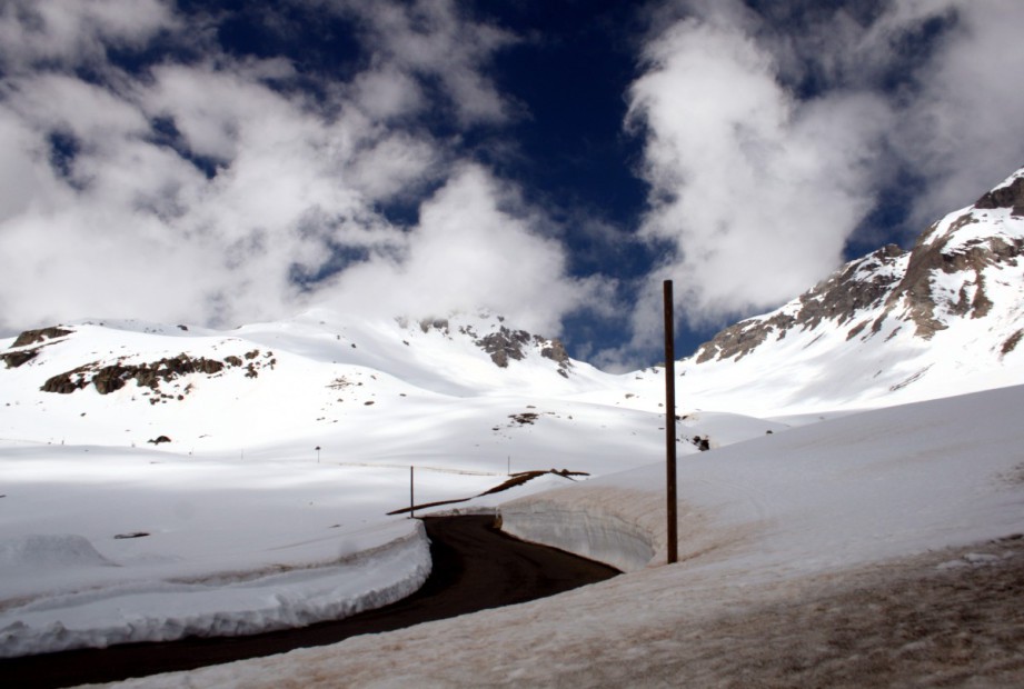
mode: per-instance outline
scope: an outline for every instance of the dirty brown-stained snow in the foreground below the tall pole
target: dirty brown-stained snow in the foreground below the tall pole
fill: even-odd
[[[135,689],[1020,687],[1021,541],[737,586],[656,567],[518,606],[119,683]],[[1014,546],[1013,543],[1017,543]]]

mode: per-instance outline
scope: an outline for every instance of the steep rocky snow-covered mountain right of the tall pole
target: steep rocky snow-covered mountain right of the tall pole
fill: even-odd
[[[895,405],[1024,382],[1024,169],[924,231],[732,326],[682,368],[702,406]],[[737,410],[737,407],[729,407]]]

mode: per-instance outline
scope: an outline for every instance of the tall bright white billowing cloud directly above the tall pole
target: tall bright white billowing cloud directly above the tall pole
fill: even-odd
[[[777,304],[827,274],[871,208],[865,150],[886,109],[863,93],[799,101],[773,54],[720,22],[682,20],[645,57],[629,110],[652,186],[642,232],[670,248],[646,291],[673,278],[700,323]],[[657,322],[650,309],[639,319],[638,334]]]

